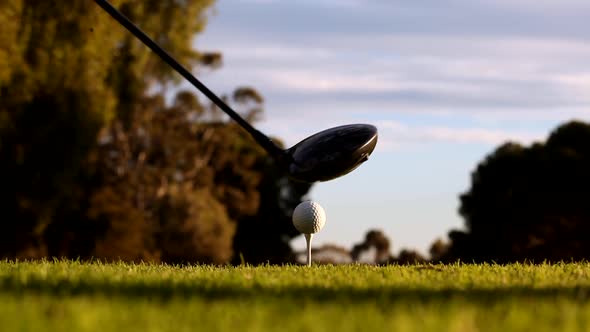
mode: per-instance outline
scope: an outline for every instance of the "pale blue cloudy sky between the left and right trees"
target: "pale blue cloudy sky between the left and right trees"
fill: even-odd
[[[427,253],[463,229],[459,195],[497,146],[590,121],[588,0],[217,0],[195,47],[223,53],[203,83],[255,87],[255,127],[287,146],[378,128],[366,163],[312,188],[327,215],[314,245],[379,229],[394,253]]]

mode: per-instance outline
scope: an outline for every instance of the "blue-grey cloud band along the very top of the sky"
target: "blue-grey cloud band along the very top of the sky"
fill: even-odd
[[[224,14],[215,28],[234,40],[326,41],[357,33],[590,37],[590,4],[583,0],[220,0],[217,7]]]

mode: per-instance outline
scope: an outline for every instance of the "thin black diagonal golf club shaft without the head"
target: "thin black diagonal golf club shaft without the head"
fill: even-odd
[[[129,32],[131,32],[137,39],[139,39],[142,43],[144,43],[147,47],[149,47],[154,53],[156,53],[162,60],[164,60],[168,65],[170,65],[176,72],[178,72],[182,77],[184,77],[187,81],[189,81],[193,86],[195,86],[199,91],[201,91],[209,100],[211,100],[215,105],[217,105],[222,111],[224,111],[227,115],[229,115],[232,119],[234,119],[242,128],[246,129],[250,135],[256,140],[260,146],[262,146],[267,152],[269,152],[273,157],[277,157],[283,154],[283,150],[277,147],[271,139],[261,133],[260,131],[256,130],[252,127],[246,120],[244,120],[238,113],[236,113],[231,107],[229,107],[223,100],[217,97],[209,88],[207,88],[203,83],[201,83],[195,76],[193,76],[190,71],[184,68],[181,64],[178,63],[170,54],[168,54],[164,49],[162,49],[156,42],[154,42],[150,37],[148,37],[139,27],[137,27],[133,22],[131,22],[125,15],[123,15],[120,11],[118,11],[115,7],[113,7],[108,1],[106,0],[94,0],[97,5],[99,5],[104,11],[106,11],[109,15],[111,15],[117,22],[119,22],[122,26],[124,26]]]

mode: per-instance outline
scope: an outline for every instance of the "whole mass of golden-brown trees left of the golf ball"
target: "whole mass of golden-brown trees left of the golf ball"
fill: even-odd
[[[113,1],[191,70],[221,61],[194,49],[212,4]],[[179,91],[94,2],[7,0],[0,23],[1,257],[289,259],[287,216],[310,186]],[[230,100],[249,121],[263,101],[252,87]],[[251,236],[260,223],[272,225],[266,252]]]

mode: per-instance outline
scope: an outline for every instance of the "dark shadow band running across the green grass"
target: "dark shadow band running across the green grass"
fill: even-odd
[[[423,289],[403,287],[269,287],[269,286],[211,286],[190,283],[140,283],[140,282],[86,282],[29,279],[25,283],[11,277],[0,279],[0,294],[46,294],[52,296],[111,296],[129,298],[150,298],[167,300],[171,298],[219,299],[288,299],[294,301],[448,301],[460,299],[472,302],[496,302],[507,298],[551,299],[567,298],[580,302],[590,299],[590,287],[548,287],[534,288],[507,286],[501,288],[447,288]]]

